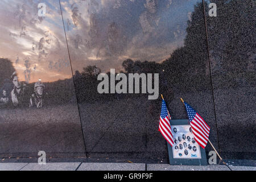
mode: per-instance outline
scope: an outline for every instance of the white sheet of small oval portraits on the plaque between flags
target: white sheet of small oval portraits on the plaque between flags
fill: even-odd
[[[172,154],[174,158],[180,159],[201,159],[200,146],[193,137],[190,125],[172,125],[174,145]]]

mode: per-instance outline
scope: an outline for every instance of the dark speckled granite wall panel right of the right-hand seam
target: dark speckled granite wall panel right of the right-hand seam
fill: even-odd
[[[208,43],[222,158],[255,158],[255,2],[210,1]]]

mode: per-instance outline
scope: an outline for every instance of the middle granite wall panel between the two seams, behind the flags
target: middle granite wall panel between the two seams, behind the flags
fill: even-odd
[[[87,155],[168,159],[160,97],[98,94],[97,71],[109,75],[110,68],[159,73],[172,118],[187,118],[183,97],[207,121],[218,149],[201,1],[96,2],[61,1]]]

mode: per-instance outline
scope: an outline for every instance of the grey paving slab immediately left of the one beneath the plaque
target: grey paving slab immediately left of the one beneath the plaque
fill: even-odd
[[[145,171],[143,163],[82,163],[77,171]]]

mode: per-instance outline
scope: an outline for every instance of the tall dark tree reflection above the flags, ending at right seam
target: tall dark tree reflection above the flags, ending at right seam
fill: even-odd
[[[208,54],[205,35],[202,3],[197,3],[188,21],[187,36],[184,47],[176,49],[171,57],[162,63],[168,85],[176,85],[184,89],[205,89],[202,83],[208,82]],[[171,76],[170,76],[171,75]],[[189,88],[189,82],[193,87]]]

